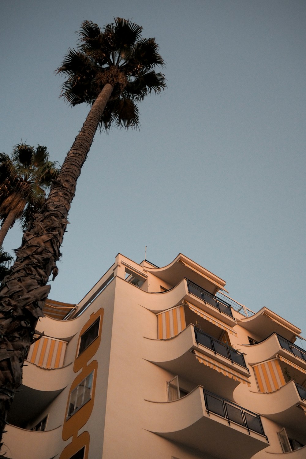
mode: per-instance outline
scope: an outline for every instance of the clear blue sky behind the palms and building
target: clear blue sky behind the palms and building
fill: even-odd
[[[140,104],[140,130],[96,134],[50,297],[79,302],[118,252],[140,262],[146,245],[306,336],[306,2],[2,0],[0,151],[23,140],[63,161],[88,107],[59,99],[54,70],[85,19],[117,16],[156,37],[168,87]],[[20,241],[17,227],[6,250]]]

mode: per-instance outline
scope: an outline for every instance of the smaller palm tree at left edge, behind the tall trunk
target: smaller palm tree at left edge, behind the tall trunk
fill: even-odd
[[[26,229],[33,212],[45,202],[45,191],[58,172],[45,146],[34,148],[20,143],[14,147],[12,158],[0,153],[0,246],[16,219],[22,219]]]

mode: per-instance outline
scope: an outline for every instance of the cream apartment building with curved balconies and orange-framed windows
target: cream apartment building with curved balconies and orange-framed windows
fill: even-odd
[[[301,330],[182,254],[120,253],[78,305],[47,300],[2,454],[305,459]]]

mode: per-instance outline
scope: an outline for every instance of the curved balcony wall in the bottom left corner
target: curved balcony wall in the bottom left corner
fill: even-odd
[[[50,431],[35,432],[7,424],[1,454],[6,453],[8,458],[13,459],[52,459],[60,453],[59,438],[61,426]]]

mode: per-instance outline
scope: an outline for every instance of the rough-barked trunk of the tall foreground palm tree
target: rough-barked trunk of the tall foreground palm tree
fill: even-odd
[[[22,383],[22,366],[33,342],[33,333],[50,291],[46,285],[67,226],[68,211],[77,179],[93,142],[100,116],[113,86],[106,84],[92,105],[46,202],[23,235],[11,273],[0,290],[0,433],[14,394]]]

